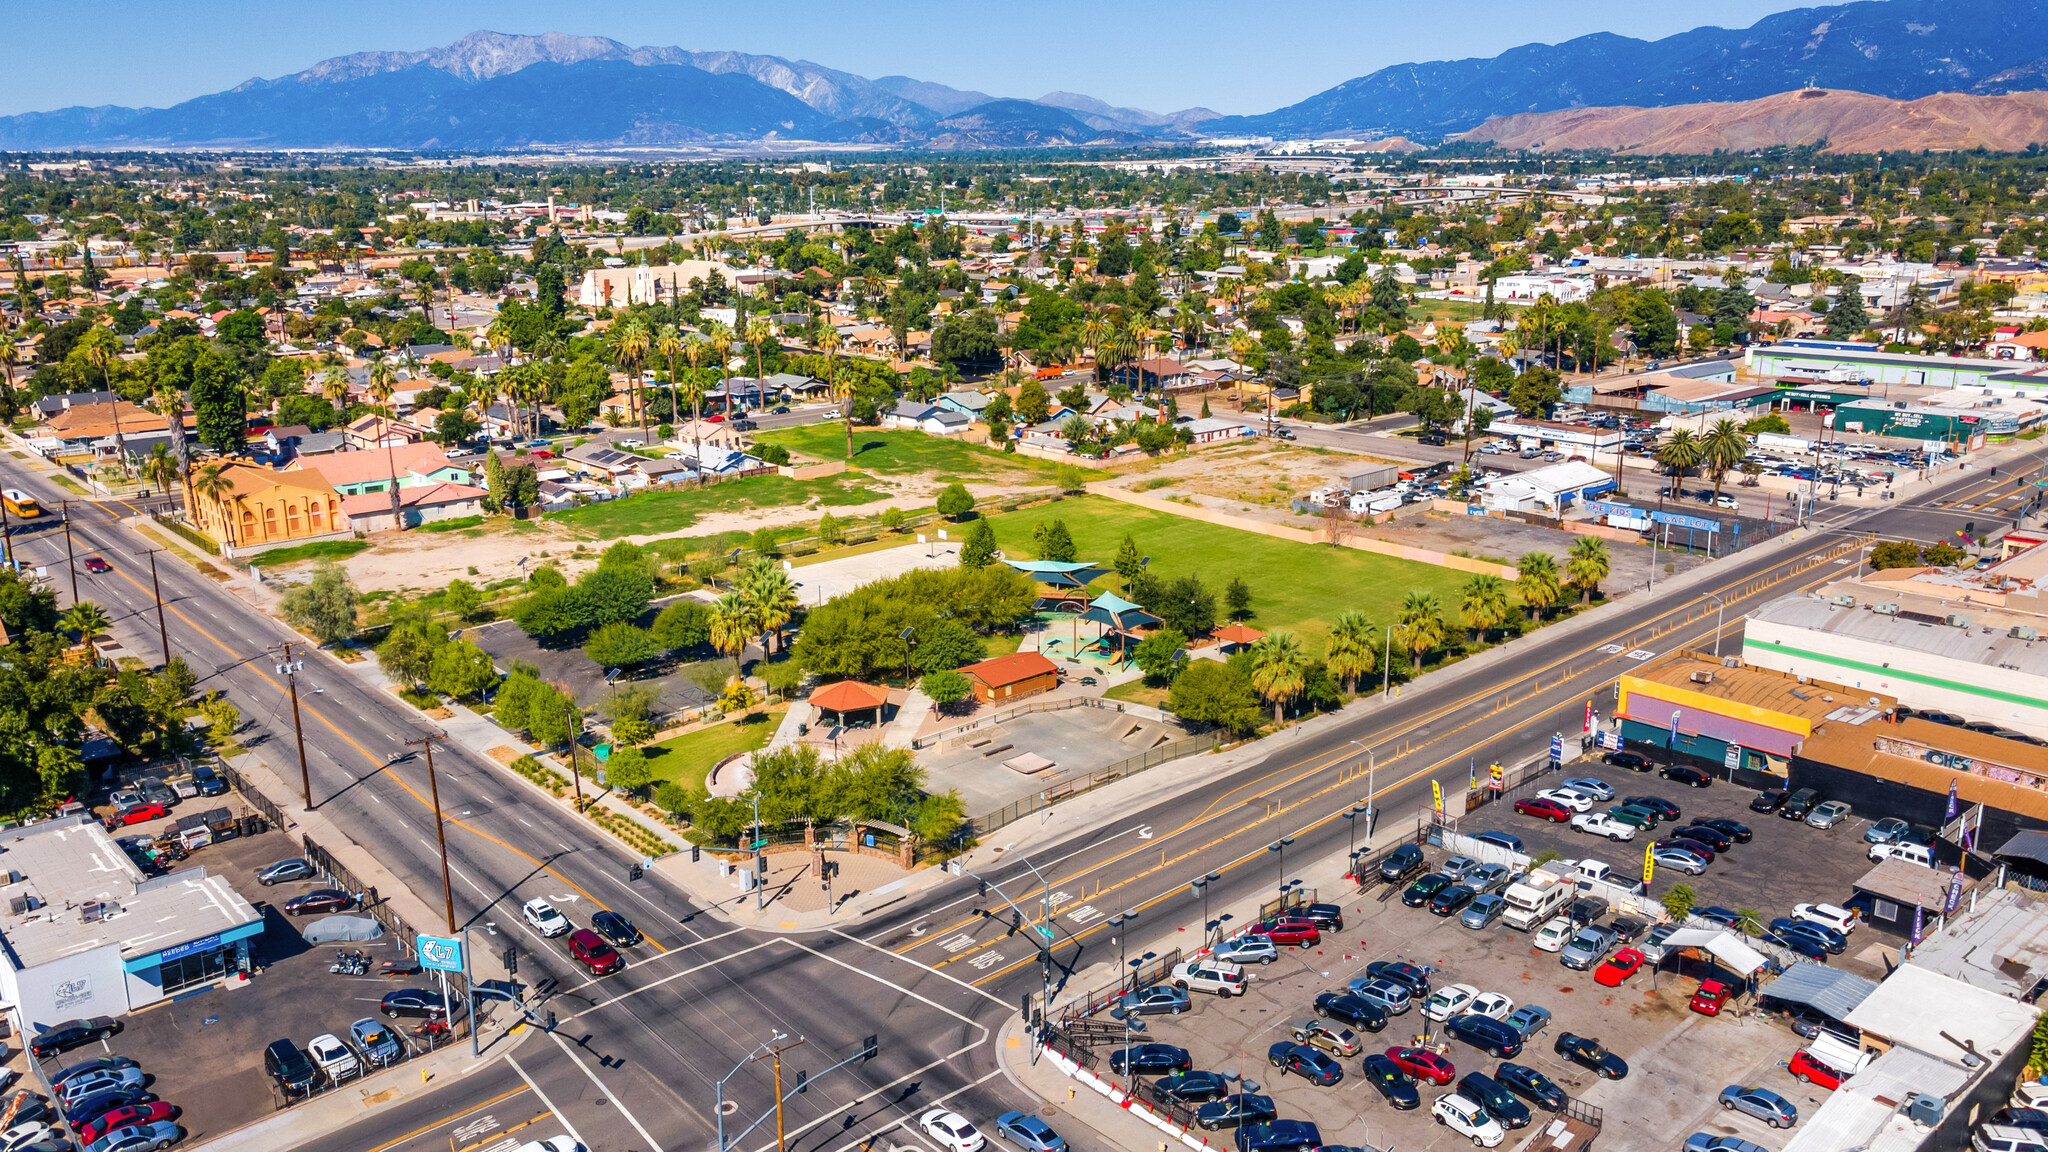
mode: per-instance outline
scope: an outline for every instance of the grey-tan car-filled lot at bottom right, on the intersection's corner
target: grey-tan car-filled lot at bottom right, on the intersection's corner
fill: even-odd
[[[1735,789],[1724,791],[1735,795]],[[1432,865],[1442,857],[1440,849],[1430,851]],[[1268,1064],[1270,1045],[1288,1041],[1294,1021],[1315,1015],[1319,992],[1341,992],[1370,961],[1403,959],[1427,968],[1432,988],[1468,984],[1479,992],[1505,994],[1516,1006],[1546,1009],[1550,1023],[1511,1060],[1542,1072],[1575,1101],[1599,1109],[1606,1146],[1675,1148],[1690,1132],[1735,1134],[1778,1146],[1782,1134],[1724,1111],[1716,1103],[1718,1093],[1729,1084],[1769,1086],[1798,1105],[1802,1115],[1825,1097],[1825,1088],[1800,1084],[1784,1070],[1802,1041],[1782,1023],[1743,1015],[1739,1004],[1720,1017],[1688,1011],[1700,970],[1642,970],[1620,988],[1606,988],[1593,980],[1593,972],[1563,968],[1554,953],[1534,951],[1524,933],[1499,922],[1473,931],[1458,916],[1440,918],[1423,908],[1403,906],[1399,892],[1399,886],[1389,886],[1350,896],[1343,900],[1341,931],[1325,933],[1313,947],[1282,947],[1270,965],[1247,965],[1247,992],[1239,998],[1194,992],[1186,1015],[1143,1017],[1143,1033],[1133,1035],[1133,1041],[1180,1045],[1190,1052],[1198,1070],[1241,1074],[1255,1084],[1255,1093],[1274,1099],[1280,1117],[1317,1123],[1325,1144],[1460,1148],[1468,1138],[1436,1123],[1430,1109],[1438,1097],[1456,1088],[1456,1078],[1468,1072],[1491,1076],[1501,1060],[1462,1039],[1434,1035],[1440,1025],[1425,1021],[1419,1004],[1391,1017],[1378,1033],[1360,1029],[1356,1039],[1362,1050],[1337,1060],[1343,1080],[1333,1086],[1282,1076]],[[1323,898],[1329,896],[1325,890]],[[1114,1025],[1108,1015],[1098,1015],[1096,1021]],[[1630,1074],[1624,1080],[1602,1080],[1571,1064],[1554,1052],[1563,1031],[1597,1039],[1628,1062]],[[1452,1062],[1454,1080],[1450,1086],[1427,1080],[1417,1084],[1421,1107],[1397,1111],[1362,1076],[1362,1058],[1423,1039]],[[1120,1047],[1120,1039],[1098,1045],[1104,1070],[1114,1047]],[[1536,1125],[1548,1121],[1542,1111],[1534,1117]],[[1503,1146],[1513,1148],[1530,1134],[1530,1127],[1509,1132]],[[1229,1138],[1229,1129],[1208,1136],[1212,1144]]]

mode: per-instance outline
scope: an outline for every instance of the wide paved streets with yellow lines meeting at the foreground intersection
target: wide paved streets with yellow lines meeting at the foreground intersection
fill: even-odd
[[[2038,461],[2042,453],[2032,455]],[[10,459],[0,459],[0,480],[51,502],[61,496]],[[1985,500],[1995,490],[1987,482],[1985,474],[1958,474],[1907,508]],[[119,506],[76,510],[78,556],[98,553],[115,564],[113,574],[82,572],[80,592],[106,607],[115,633],[131,650],[154,652],[147,566],[133,556],[143,539],[117,523],[125,515]],[[1847,529],[1898,510],[1825,506],[1821,519]],[[51,566],[57,588],[68,590],[61,533],[39,527],[20,533],[16,547],[31,564]],[[1776,556],[1724,560],[1704,588],[1726,596],[1733,635],[1745,607],[1833,578],[1851,560],[1853,541],[1827,531]],[[172,648],[195,664],[205,687],[236,695],[260,732],[256,738],[281,742],[272,756],[287,763],[276,752],[289,746],[289,707],[266,648],[293,640],[291,633],[182,564],[160,568]],[[1217,871],[1210,904],[1247,910],[1305,861],[1341,857],[1350,828],[1337,812],[1362,799],[1368,781],[1339,777],[1356,769],[1366,748],[1374,763],[1368,779],[1386,820],[1411,820],[1427,804],[1430,779],[1452,787],[1462,781],[1466,760],[1483,767],[1534,754],[1552,730],[1575,730],[1585,699],[1618,670],[1636,666],[1638,654],[1708,642],[1714,607],[1698,592],[1679,601],[1632,596],[1597,625],[1538,631],[1462,678],[1417,685],[1194,795],[1038,851],[1032,863],[1051,877],[1047,896],[1065,894],[1055,914],[1061,978],[1081,980],[1092,965],[1114,957],[1106,920],[1118,908],[1139,910],[1143,931],[1133,931],[1130,945],[1180,943],[1184,935],[1176,929],[1202,916],[1186,879]],[[301,685],[309,689],[305,724],[315,799],[352,836],[375,845],[416,892],[438,902],[424,767],[410,758],[387,765],[426,724],[397,699],[360,687],[326,654],[307,656]],[[791,1099],[788,1125],[799,1148],[846,1152],[932,1103],[981,1119],[1030,1105],[999,1076],[991,1037],[1018,998],[1038,988],[1038,963],[1018,939],[1006,939],[999,927],[971,912],[995,900],[979,898],[973,879],[942,886],[852,933],[733,929],[657,877],[625,883],[625,853],[600,832],[528,799],[496,765],[451,746],[436,754],[436,767],[442,801],[455,818],[449,849],[457,918],[496,933],[489,947],[520,947],[520,976],[543,982],[559,1029],[528,1037],[516,1052],[516,1068],[492,1066],[416,1105],[334,1132],[313,1148],[463,1148],[473,1142],[453,1140],[459,1125],[451,1121],[473,1113],[479,1099],[514,1088],[545,1097],[541,1107],[555,1123],[592,1148],[713,1146],[715,1084],[774,1031],[805,1037],[805,1050],[791,1060],[813,1072],[856,1052],[860,1037],[883,1037],[877,1060],[823,1076]],[[1282,871],[1282,859],[1268,855],[1266,845],[1288,834],[1296,842],[1284,853],[1292,867]],[[1001,840],[1001,832],[991,836],[995,845]],[[1020,906],[1036,908],[1038,886],[1022,861],[987,875]],[[649,945],[635,949],[625,974],[590,982],[553,941],[535,937],[518,918],[516,904],[532,896],[557,900],[578,920],[596,906],[614,906],[647,931]],[[514,1074],[508,1078],[506,1070]],[[768,1064],[733,1074],[725,1084],[731,1129],[762,1115],[772,1095]],[[494,1107],[494,1117],[508,1125],[532,1103],[518,1095]],[[1071,1136],[1090,1152],[1102,1148],[1087,1134]],[[905,1129],[891,1140],[922,1146]],[[756,1129],[733,1146],[760,1152],[772,1146],[772,1132]]]

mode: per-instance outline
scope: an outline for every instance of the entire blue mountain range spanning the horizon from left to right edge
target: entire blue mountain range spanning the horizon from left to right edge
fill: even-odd
[[[170,109],[72,107],[0,117],[0,150],[522,150],[756,141],[985,150],[1235,135],[1444,139],[1499,117],[1745,102],[1815,86],[1892,105],[1942,92],[2048,90],[2048,0],[1860,0],[1778,12],[1747,29],[1702,27],[1657,41],[1595,33],[1483,59],[1382,68],[1296,105],[1239,117],[1208,109],[1153,113],[1075,92],[1047,92],[1036,100],[991,96],[909,76],[868,80],[778,55],[479,31],[436,49],[340,55]],[[1858,123],[1868,129],[1880,107],[1890,105],[1862,105]],[[1935,119],[1952,123],[1933,137],[2009,139],[2019,131],[2038,139],[2036,129],[2023,127],[2032,123],[2028,115],[1995,109],[1950,102]],[[1802,109],[1806,121],[1815,113]],[[1995,129],[1976,131],[1964,123],[1974,115],[2003,119]],[[1491,139],[1534,139],[1530,131],[1546,133],[1542,139],[1552,143],[1561,139],[1554,129],[1530,123]],[[1640,139],[1663,135],[1671,133],[1645,129]],[[1882,127],[1864,135],[1884,139]],[[1712,133],[1671,135],[1679,137],[1718,139]]]

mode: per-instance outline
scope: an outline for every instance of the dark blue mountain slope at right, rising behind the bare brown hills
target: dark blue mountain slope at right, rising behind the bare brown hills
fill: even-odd
[[[1595,33],[1491,59],[1399,64],[1202,131],[1436,137],[1518,113],[1757,100],[1808,82],[1901,100],[2044,88],[2048,0],[1862,0],[1661,41]]]

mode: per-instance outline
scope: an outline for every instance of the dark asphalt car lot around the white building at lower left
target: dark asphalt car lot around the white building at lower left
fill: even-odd
[[[186,801],[184,808],[190,804],[195,801]],[[272,830],[197,849],[174,865],[205,865],[211,873],[229,877],[264,914],[264,931],[252,941],[254,978],[248,982],[229,978],[225,984],[123,1017],[121,1033],[111,1041],[49,1058],[45,1068],[55,1072],[102,1052],[137,1060],[152,1076],[150,1091],[182,1109],[178,1123],[190,1142],[209,1140],[276,1111],[276,1097],[262,1068],[264,1045],[289,1037],[303,1050],[305,1041],[319,1033],[346,1039],[352,1021],[377,1017],[377,1000],[385,992],[410,986],[406,980],[377,976],[385,959],[401,957],[399,945],[389,937],[358,945],[305,943],[299,929],[317,916],[287,916],[285,902],[313,888],[328,888],[330,881],[305,879],[270,888],[256,883],[258,869],[293,855],[297,842]],[[338,947],[367,951],[371,976],[330,974],[328,965]],[[418,1021],[397,1021],[397,1025],[408,1023]],[[393,1029],[412,1041],[408,1031],[408,1027]]]

